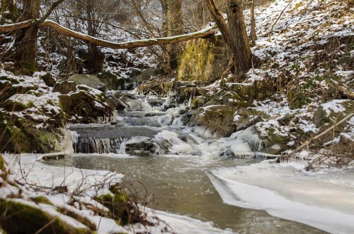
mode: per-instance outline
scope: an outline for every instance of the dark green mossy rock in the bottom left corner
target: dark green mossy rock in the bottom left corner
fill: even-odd
[[[41,228],[40,233],[94,233],[87,227],[74,227],[59,217],[54,217],[45,212],[35,204],[24,203],[17,199],[1,199],[0,213],[3,215],[3,218],[0,219],[0,225],[8,233],[32,234]],[[51,223],[51,225],[48,225],[48,223]]]

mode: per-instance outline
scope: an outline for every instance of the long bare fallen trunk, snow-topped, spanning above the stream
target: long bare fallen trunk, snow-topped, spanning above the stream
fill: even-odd
[[[74,37],[80,40],[84,40],[99,46],[108,47],[112,49],[127,49],[127,48],[135,48],[135,47],[147,47],[152,45],[172,44],[172,43],[178,43],[182,41],[193,40],[197,38],[209,37],[215,34],[213,29],[216,28],[216,27],[208,27],[197,32],[178,35],[178,36],[171,36],[171,37],[160,37],[160,38],[151,38],[151,39],[143,39],[143,40],[135,40],[135,41],[125,41],[125,42],[112,42],[97,37],[89,36],[80,32],[76,32],[69,28],[63,27],[52,20],[45,20],[39,24],[37,24],[37,20],[27,20],[15,24],[1,25],[0,33],[23,29],[32,25],[36,25],[39,28],[52,28],[60,34]]]

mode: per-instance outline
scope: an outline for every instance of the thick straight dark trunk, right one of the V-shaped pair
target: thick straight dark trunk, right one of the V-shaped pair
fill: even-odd
[[[228,0],[227,15],[231,32],[230,47],[234,55],[235,72],[241,75],[250,69],[252,56],[241,0]]]

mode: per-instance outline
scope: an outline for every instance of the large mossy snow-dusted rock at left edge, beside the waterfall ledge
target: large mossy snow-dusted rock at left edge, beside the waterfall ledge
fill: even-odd
[[[11,153],[49,153],[62,150],[66,116],[59,98],[16,94],[3,103],[0,119],[2,150]],[[18,111],[17,115],[8,112]],[[8,111],[7,111],[8,110]]]

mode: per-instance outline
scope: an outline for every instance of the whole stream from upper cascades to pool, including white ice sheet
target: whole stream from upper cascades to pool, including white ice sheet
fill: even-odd
[[[164,105],[171,106],[168,101]],[[343,190],[340,185],[330,183],[331,176],[323,182],[322,175],[296,173],[301,165],[274,170],[274,166],[261,159],[220,157],[228,147],[237,151],[244,144],[232,138],[197,137],[182,125],[181,110],[186,107],[183,104],[161,111],[164,105],[161,106],[160,99],[139,97],[128,103],[129,111],[119,113],[115,125],[69,126],[69,130],[76,132],[75,154],[48,163],[126,173],[141,181],[154,195],[149,203],[151,208],[186,215],[220,228],[203,233],[215,230],[350,233],[352,230],[349,221],[354,217],[352,174],[345,174],[343,183],[349,187]],[[135,179],[130,181],[143,191]],[[342,181],[341,176],[336,180]],[[331,204],[334,198],[341,201]],[[170,218],[178,220],[173,215]]]

